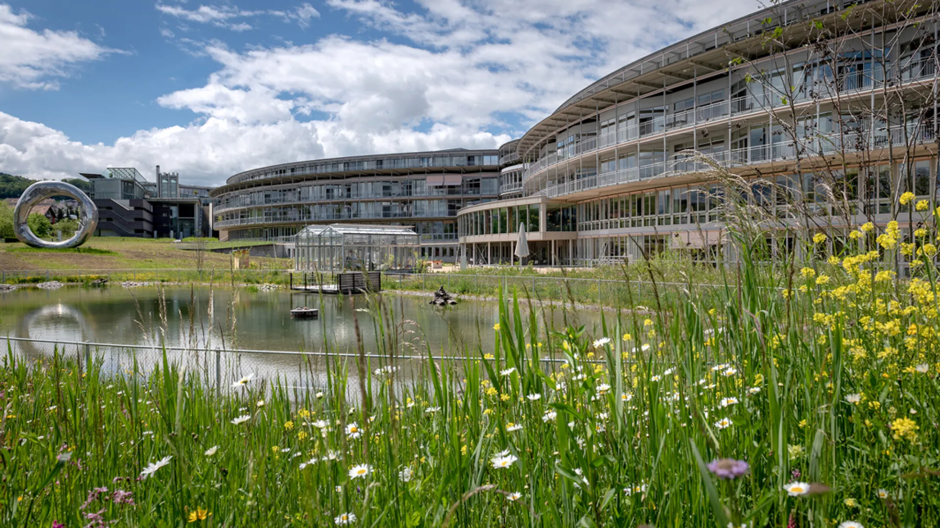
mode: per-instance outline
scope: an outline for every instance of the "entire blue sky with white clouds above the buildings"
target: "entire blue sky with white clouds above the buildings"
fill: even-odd
[[[0,0],[0,172],[495,148],[757,0]]]

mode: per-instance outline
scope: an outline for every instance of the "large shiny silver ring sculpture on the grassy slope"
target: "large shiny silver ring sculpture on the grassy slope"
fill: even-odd
[[[26,224],[26,220],[29,217],[29,210],[33,209],[33,206],[40,201],[50,196],[71,196],[82,206],[81,216],[78,219],[82,228],[75,231],[71,239],[60,242],[43,241],[39,239],[39,237],[33,233],[32,229],[29,228],[29,225]],[[83,193],[81,189],[70,183],[65,183],[64,181],[37,181],[26,188],[23,195],[20,196],[19,201],[16,202],[16,209],[13,210],[13,231],[16,234],[16,238],[20,239],[24,244],[33,247],[55,249],[78,247],[91,237],[91,234],[95,232],[95,227],[97,226],[98,208],[95,207],[95,203],[92,202],[91,198]]]

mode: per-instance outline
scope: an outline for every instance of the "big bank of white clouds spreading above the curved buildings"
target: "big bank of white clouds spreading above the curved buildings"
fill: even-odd
[[[272,163],[495,148],[592,80],[759,8],[755,0],[719,5],[692,0],[417,4],[404,10],[380,0],[326,0],[331,14],[368,26],[365,39],[331,34],[305,44],[241,49],[189,39],[215,62],[215,71],[204,83],[156,102],[191,112],[191,122],[141,130],[112,145],[83,145],[64,132],[0,113],[0,170],[64,178],[106,166],[137,166],[149,174],[159,163],[179,171],[186,181],[219,184],[237,172]],[[229,4],[158,4],[157,9],[180,23],[231,29],[260,15],[302,26],[321,17],[309,4],[277,11]],[[0,7],[0,23],[18,16],[23,15]],[[24,28],[24,23],[7,25]],[[169,30],[164,36],[174,38]],[[0,49],[0,57],[3,53]],[[81,60],[88,59],[80,55],[61,62],[60,68]],[[24,67],[46,68],[42,61]],[[0,76],[3,68],[0,58]],[[42,73],[38,79],[49,76]]]

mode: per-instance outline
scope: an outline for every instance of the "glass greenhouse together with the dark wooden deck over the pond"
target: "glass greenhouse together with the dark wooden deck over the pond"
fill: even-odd
[[[381,272],[412,272],[420,239],[404,225],[307,225],[294,236],[291,289],[322,293],[380,291]]]

